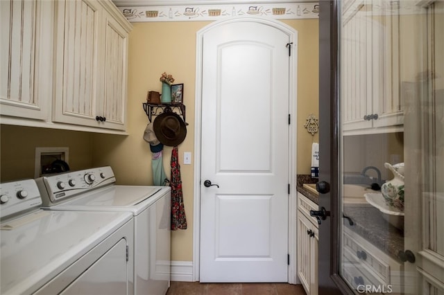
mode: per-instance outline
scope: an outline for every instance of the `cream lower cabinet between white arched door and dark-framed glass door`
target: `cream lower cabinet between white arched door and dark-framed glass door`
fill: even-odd
[[[307,294],[318,294],[318,224],[309,216],[318,205],[298,193],[298,278]]]

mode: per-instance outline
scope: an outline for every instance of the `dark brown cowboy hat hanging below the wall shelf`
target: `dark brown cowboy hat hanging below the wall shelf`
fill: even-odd
[[[176,146],[185,140],[187,127],[180,116],[172,111],[167,111],[155,118],[153,123],[155,136],[164,145]]]

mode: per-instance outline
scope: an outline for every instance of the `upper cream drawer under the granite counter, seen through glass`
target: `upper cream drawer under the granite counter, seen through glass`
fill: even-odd
[[[355,261],[375,272],[384,283],[390,283],[390,266],[380,258],[376,253],[372,253],[367,247],[364,247],[357,240],[353,239],[348,233],[343,235],[344,253],[348,253],[350,261]]]

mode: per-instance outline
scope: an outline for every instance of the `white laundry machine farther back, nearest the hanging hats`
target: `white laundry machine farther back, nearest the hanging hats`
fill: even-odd
[[[133,214],[134,294],[164,295],[170,280],[171,188],[120,186],[112,168],[92,168],[36,179],[44,209]]]

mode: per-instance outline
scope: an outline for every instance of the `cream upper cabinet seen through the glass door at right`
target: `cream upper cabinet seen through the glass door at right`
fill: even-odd
[[[386,0],[349,3],[341,28],[344,134],[402,131],[400,17],[381,13]]]

